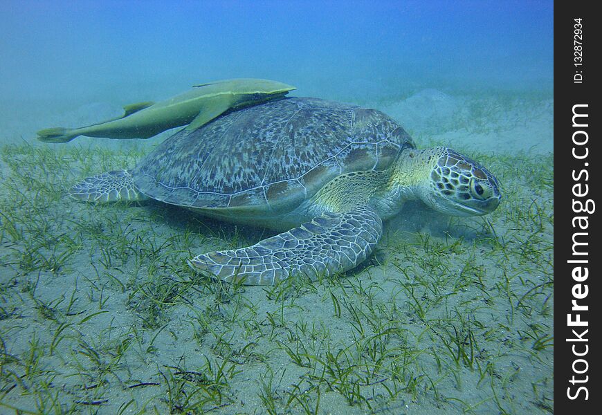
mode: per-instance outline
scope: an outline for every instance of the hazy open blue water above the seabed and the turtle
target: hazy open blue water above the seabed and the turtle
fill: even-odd
[[[0,93],[62,102],[266,77],[325,98],[551,89],[552,1],[6,1]]]

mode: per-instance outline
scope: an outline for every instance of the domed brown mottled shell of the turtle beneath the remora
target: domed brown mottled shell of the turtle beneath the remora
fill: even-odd
[[[286,98],[175,133],[136,166],[134,183],[186,208],[288,212],[340,174],[386,169],[406,147],[408,133],[380,111]]]

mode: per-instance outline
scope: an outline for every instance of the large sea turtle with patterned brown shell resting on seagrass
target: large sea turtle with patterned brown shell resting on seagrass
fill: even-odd
[[[179,131],[134,169],[86,178],[71,196],[150,198],[284,231],[188,261],[250,285],[354,268],[381,238],[383,220],[410,199],[472,216],[492,212],[501,197],[496,178],[470,158],[446,147],[418,150],[384,113],[316,98],[266,102]]]

